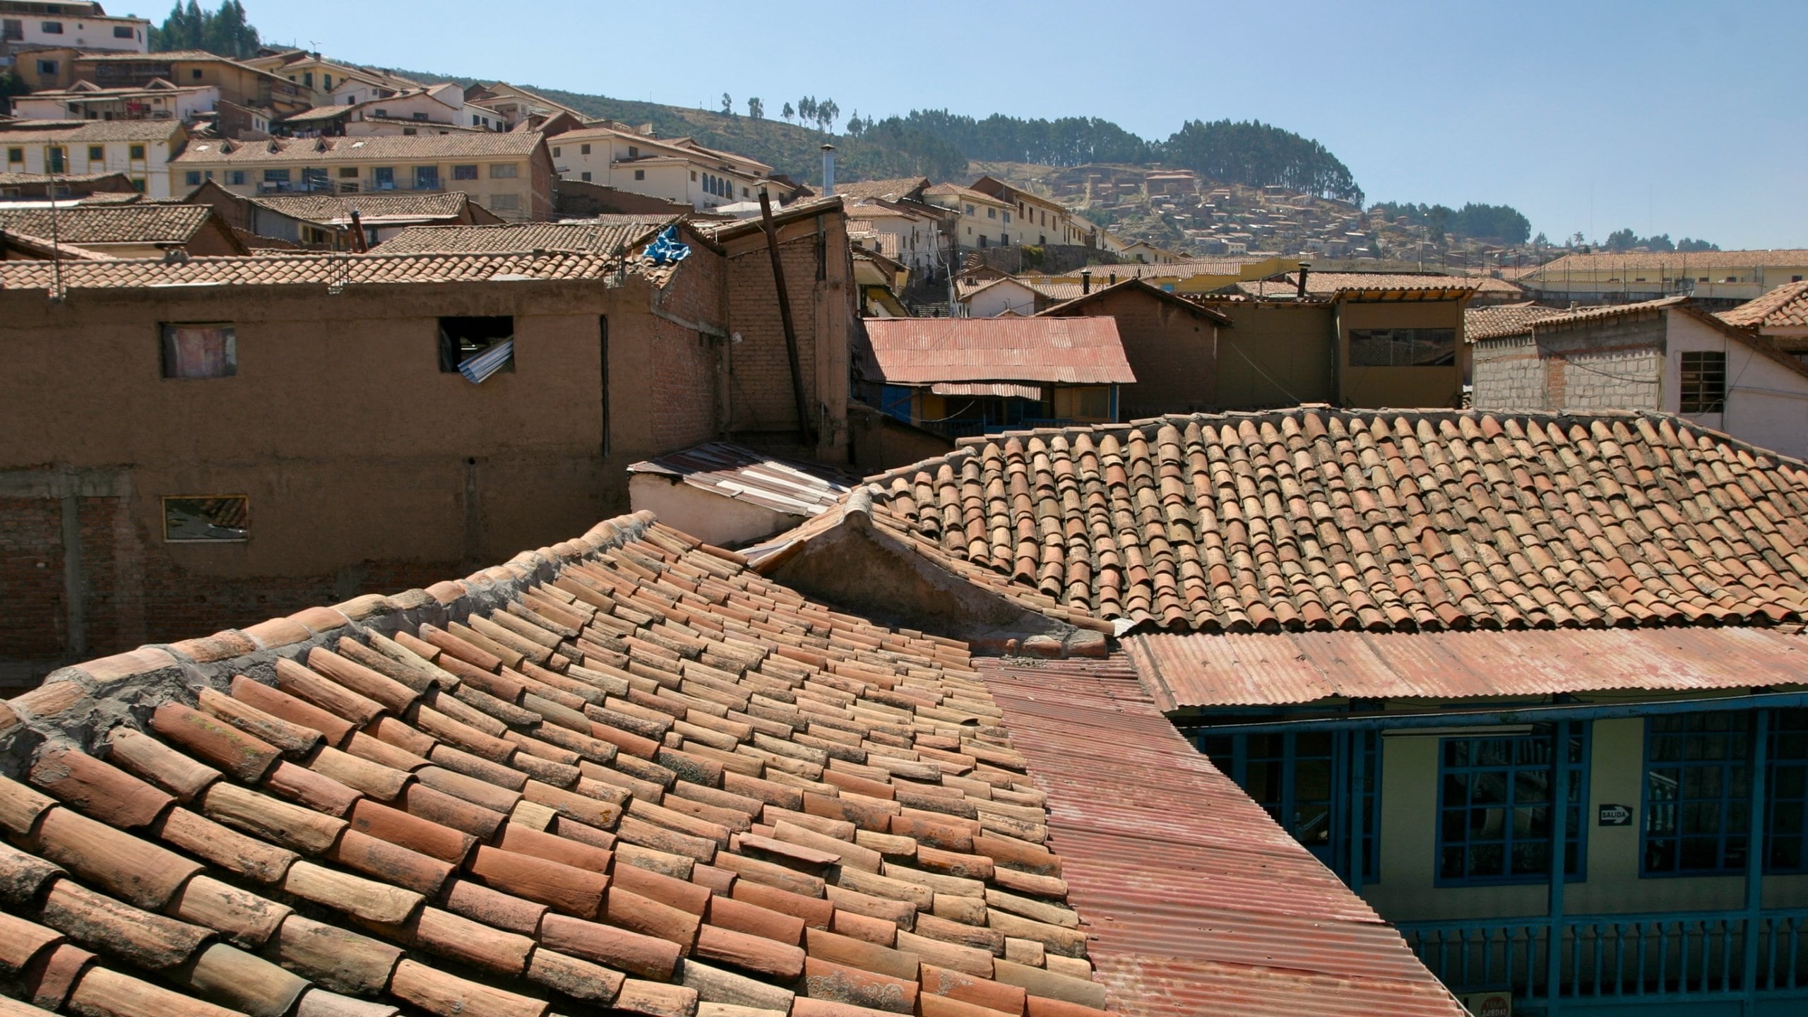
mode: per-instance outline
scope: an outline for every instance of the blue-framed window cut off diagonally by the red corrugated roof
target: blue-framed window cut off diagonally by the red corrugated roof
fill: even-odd
[[[1376,854],[1381,829],[1381,737],[1376,731],[1304,731],[1280,735],[1195,737],[1195,746],[1305,845],[1349,881],[1354,832],[1352,749],[1363,751],[1363,881],[1381,878]]]

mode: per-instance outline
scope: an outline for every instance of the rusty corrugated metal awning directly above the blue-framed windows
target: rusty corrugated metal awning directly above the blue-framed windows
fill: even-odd
[[[1154,633],[1125,651],[1163,709],[1801,684],[1808,639],[1774,628]]]

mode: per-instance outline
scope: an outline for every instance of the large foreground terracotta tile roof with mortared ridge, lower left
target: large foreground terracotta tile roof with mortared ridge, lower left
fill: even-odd
[[[1108,1001],[1049,794],[965,646],[649,516],[58,671],[4,704],[0,744],[0,961],[51,1010]]]

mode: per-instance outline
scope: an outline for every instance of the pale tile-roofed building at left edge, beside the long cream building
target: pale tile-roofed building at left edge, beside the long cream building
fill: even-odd
[[[188,130],[174,119],[0,130],[9,174],[125,174],[132,186],[150,197],[175,197],[170,190],[170,159],[186,141]]]

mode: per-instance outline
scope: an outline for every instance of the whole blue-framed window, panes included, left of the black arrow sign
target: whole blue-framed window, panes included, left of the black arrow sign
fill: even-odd
[[[1557,737],[1441,738],[1437,758],[1439,887],[1542,883],[1551,874]],[[1586,874],[1589,726],[1564,746],[1564,878]]]

